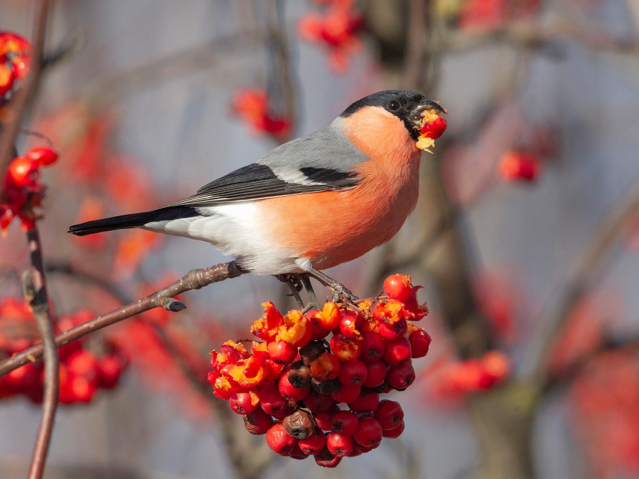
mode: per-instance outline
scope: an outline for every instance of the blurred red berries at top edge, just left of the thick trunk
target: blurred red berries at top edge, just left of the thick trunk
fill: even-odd
[[[322,3],[328,4],[323,14],[308,13],[300,19],[300,36],[324,45],[328,50],[328,65],[336,72],[344,72],[348,68],[348,57],[361,44],[358,34],[362,31],[362,17],[354,10],[353,0]]]

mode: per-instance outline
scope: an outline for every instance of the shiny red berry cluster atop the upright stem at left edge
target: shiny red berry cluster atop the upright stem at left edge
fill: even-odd
[[[40,206],[46,186],[38,181],[40,167],[58,160],[58,153],[50,148],[31,148],[24,156],[10,164],[0,195],[0,229],[4,233],[13,218],[22,220],[25,231],[33,228],[36,216],[33,208]]]

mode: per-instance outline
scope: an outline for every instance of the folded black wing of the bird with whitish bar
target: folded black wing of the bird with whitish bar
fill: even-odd
[[[315,167],[275,167],[252,163],[230,172],[197,193],[164,208],[173,206],[206,206],[216,203],[272,198],[327,190],[341,190],[357,185],[355,172]]]

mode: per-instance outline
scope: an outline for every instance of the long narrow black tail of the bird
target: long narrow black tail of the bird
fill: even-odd
[[[113,231],[115,229],[137,228],[154,221],[177,220],[178,218],[197,217],[199,213],[195,208],[176,206],[174,208],[153,209],[142,213],[119,215],[118,217],[104,218],[102,220],[88,221],[69,227],[69,231],[75,236]]]

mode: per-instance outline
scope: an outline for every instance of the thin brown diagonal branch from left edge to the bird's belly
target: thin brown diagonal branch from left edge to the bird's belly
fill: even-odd
[[[133,301],[128,305],[113,310],[102,316],[89,319],[85,323],[78,324],[70,330],[63,331],[56,335],[56,347],[64,346],[84,335],[87,335],[93,331],[104,328],[111,324],[118,323],[123,319],[135,316],[144,311],[148,311],[157,307],[166,307],[171,310],[171,304],[167,305],[167,299],[173,298],[178,294],[185,293],[192,289],[200,289],[206,285],[224,281],[229,278],[236,278],[243,275],[246,271],[243,271],[236,266],[235,261],[216,264],[215,266],[209,266],[201,270],[191,270],[187,275],[184,275],[176,282],[169,284],[168,286],[151,293],[148,296],[144,296],[137,301]],[[176,301],[179,302],[179,301]],[[29,362],[35,361],[42,356],[42,344],[36,344],[24,351],[14,354],[11,358],[8,358],[0,362],[0,376],[4,376],[8,372],[19,368]]]

